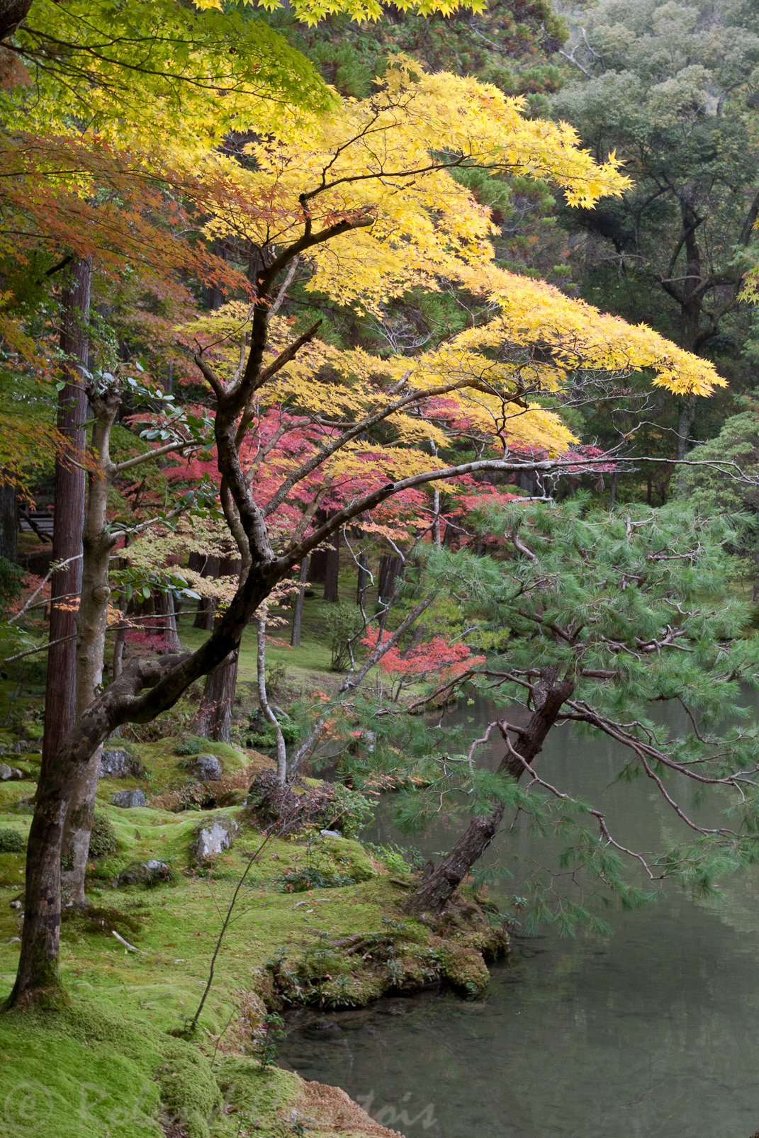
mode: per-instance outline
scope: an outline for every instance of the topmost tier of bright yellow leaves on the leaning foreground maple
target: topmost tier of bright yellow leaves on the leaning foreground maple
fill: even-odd
[[[525,101],[490,83],[396,60],[381,89],[249,143],[255,170],[234,173],[258,209],[220,211],[209,234],[259,246],[294,241],[308,223],[324,230],[371,217],[308,253],[310,288],[378,312],[412,286],[436,288],[493,257],[489,212],[456,181],[477,166],[551,179],[571,205],[592,206],[629,184],[614,159],[599,165],[566,123],[525,118]],[[232,176],[232,175],[230,175]]]

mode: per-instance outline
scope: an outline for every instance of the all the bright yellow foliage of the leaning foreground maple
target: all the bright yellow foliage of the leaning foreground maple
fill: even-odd
[[[362,450],[377,447],[388,477],[414,473],[420,462],[431,469],[444,464],[435,454],[456,434],[473,434],[496,453],[520,445],[561,454],[577,439],[556,412],[578,373],[646,369],[675,394],[725,386],[711,363],[651,329],[494,265],[489,212],[456,170],[550,179],[570,205],[585,207],[629,184],[613,156],[597,164],[570,126],[527,119],[522,110],[522,100],[492,84],[428,75],[398,58],[370,98],[343,100],[290,133],[258,137],[247,146],[251,168],[231,175],[242,192],[218,209],[208,233],[242,237],[263,257],[298,248],[307,290],[380,315],[413,286],[453,281],[492,313],[414,356],[380,358],[315,339],[264,385],[263,410],[320,429],[382,422],[381,442],[370,431],[361,446],[352,442],[325,460],[329,477],[355,473]],[[249,208],[241,205],[246,193]],[[361,224],[352,228],[355,220]],[[313,233],[324,237],[304,242]],[[241,343],[250,311],[226,305],[198,327]],[[288,323],[270,320],[267,362],[289,339]],[[220,374],[233,373],[239,351],[220,361]]]

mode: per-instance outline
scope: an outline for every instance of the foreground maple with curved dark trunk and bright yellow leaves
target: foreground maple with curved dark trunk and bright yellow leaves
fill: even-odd
[[[401,61],[369,99],[275,138],[254,137],[239,162],[214,156],[193,171],[211,188],[206,237],[233,237],[257,265],[241,307],[198,316],[182,332],[198,339],[193,361],[207,384],[239,585],[197,651],[135,657],[81,708],[40,781],[11,1004],[59,983],[60,836],[81,772],[117,726],[151,720],[236,652],[294,566],[382,503],[432,483],[576,470],[577,455],[562,456],[571,432],[551,406],[578,372],[645,366],[655,384],[703,395],[721,382],[708,362],[655,333],[493,265],[488,212],[452,171],[552,178],[587,206],[625,185],[613,162],[597,166],[569,127],[526,119],[522,106],[487,84],[419,74]],[[214,193],[221,183],[224,193]],[[316,338],[316,327],[298,333],[272,315],[275,289],[296,261],[310,274],[307,288],[364,312],[412,284],[434,290],[455,279],[487,299],[494,319],[413,358],[338,353]],[[104,380],[93,396],[116,401],[123,380]],[[481,434],[481,456],[457,462],[464,422]],[[539,445],[547,457],[512,452],[512,443]],[[325,487],[335,498],[321,520]]]

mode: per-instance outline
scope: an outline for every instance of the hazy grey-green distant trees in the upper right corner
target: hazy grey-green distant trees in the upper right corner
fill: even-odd
[[[563,55],[574,71],[567,64],[553,112],[596,156],[614,150],[634,181],[593,214],[561,214],[562,225],[584,234],[583,295],[603,296],[620,315],[645,320],[751,387],[741,349],[754,318],[740,291],[756,261],[759,216],[756,9],[602,0],[572,24]],[[663,401],[646,417],[666,428],[660,453],[685,453],[695,410],[692,401]],[[725,410],[701,410],[702,437]]]

